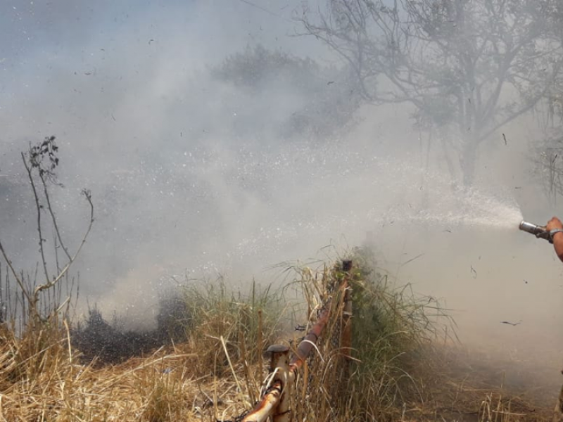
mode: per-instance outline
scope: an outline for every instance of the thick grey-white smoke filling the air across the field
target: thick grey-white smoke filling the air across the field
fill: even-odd
[[[270,282],[272,264],[335,257],[371,232],[381,267],[444,298],[462,338],[559,350],[563,266],[517,231],[519,208],[538,224],[560,212],[526,158],[537,119],[493,134],[474,188],[453,186],[409,106],[358,108],[341,58],[294,36],[302,4],[4,1],[0,235],[16,266],[39,258],[19,154],[53,134],[71,243],[80,189],[94,200],[82,298],[132,326],[151,324],[172,275]],[[265,58],[251,77],[234,71],[245,52]]]

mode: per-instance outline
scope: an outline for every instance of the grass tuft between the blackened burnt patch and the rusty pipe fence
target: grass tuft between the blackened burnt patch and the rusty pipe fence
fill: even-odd
[[[271,285],[260,288],[253,281],[244,294],[218,279],[189,283],[183,291],[191,315],[186,326],[189,343],[198,350],[198,375],[213,366],[217,366],[220,376],[230,373],[232,365],[245,366],[248,372],[281,333],[285,302]],[[257,381],[248,373],[245,379],[249,382],[248,378],[260,384],[260,377]]]

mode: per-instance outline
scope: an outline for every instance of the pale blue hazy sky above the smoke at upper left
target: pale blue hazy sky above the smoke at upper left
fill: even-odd
[[[310,43],[286,37],[295,26],[295,3],[3,1],[0,106],[10,112],[3,113],[3,125],[49,132],[58,110],[83,127],[92,111],[110,117],[124,96],[177,93],[175,84],[248,44],[302,53]]]

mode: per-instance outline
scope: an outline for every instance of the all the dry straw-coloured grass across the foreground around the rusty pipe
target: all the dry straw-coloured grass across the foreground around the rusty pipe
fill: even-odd
[[[453,348],[436,348],[436,339],[441,345],[448,340],[440,307],[366,268],[355,267],[348,279],[351,358],[341,343],[339,285],[347,275],[339,265],[296,268],[287,288],[303,300],[291,306],[269,288],[252,286],[243,295],[220,281],[186,286],[189,340],[121,364],[80,364],[64,321],[35,322],[19,336],[2,326],[0,421],[232,420],[258,399],[266,376],[262,351],[272,343],[294,348],[303,335],[280,331],[281,321],[291,319],[287,311],[310,325],[327,304],[329,323],[296,381],[293,420],[509,422],[550,416],[502,383],[469,379],[460,363],[467,359]]]

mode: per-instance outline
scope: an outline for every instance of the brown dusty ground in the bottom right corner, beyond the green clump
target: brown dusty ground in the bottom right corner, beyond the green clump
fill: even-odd
[[[408,412],[418,420],[552,421],[563,375],[545,359],[517,360],[476,348],[445,352],[429,383],[431,399]]]

